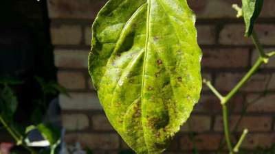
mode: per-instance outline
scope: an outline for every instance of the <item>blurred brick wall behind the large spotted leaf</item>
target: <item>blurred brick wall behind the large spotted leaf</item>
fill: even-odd
[[[104,116],[87,72],[91,24],[105,2],[106,0],[49,0],[48,9],[58,81],[72,96],[60,97],[63,126],[67,129],[65,140],[68,143],[78,141],[83,146],[94,149],[95,153],[118,153],[128,147]],[[221,92],[228,92],[256,59],[251,40],[243,37],[243,21],[235,18],[236,12],[231,8],[232,3],[239,1],[197,0],[189,3],[198,17],[198,40],[204,55],[203,76],[210,79]],[[261,18],[256,25],[266,50],[275,49],[274,8],[274,0],[265,0]],[[230,123],[233,129],[243,107],[261,97],[248,107],[248,113],[234,133],[237,137],[243,127],[250,129],[244,147],[253,149],[275,142],[274,92],[275,59],[263,66],[230,102]],[[188,138],[190,131],[197,132],[197,149],[204,153],[217,149],[223,135],[221,107],[208,88],[203,87],[201,101],[195,107],[188,125],[182,127],[168,153],[188,153],[193,146]]]

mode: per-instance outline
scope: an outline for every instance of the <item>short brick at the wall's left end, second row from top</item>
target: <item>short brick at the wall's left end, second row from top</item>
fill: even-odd
[[[58,27],[51,27],[52,44],[80,44],[82,35],[81,27],[79,25],[59,25]]]

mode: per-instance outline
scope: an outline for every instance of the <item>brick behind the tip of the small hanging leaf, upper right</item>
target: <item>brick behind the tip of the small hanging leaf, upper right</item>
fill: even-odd
[[[253,44],[250,38],[244,37],[244,25],[225,25],[219,34],[219,41],[221,44],[228,45],[243,45]],[[262,44],[274,45],[275,42],[275,25],[256,25],[255,31],[259,36]]]

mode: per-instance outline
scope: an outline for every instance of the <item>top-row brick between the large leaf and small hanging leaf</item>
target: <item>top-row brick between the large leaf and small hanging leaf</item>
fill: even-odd
[[[236,18],[236,11],[232,9],[233,3],[238,0],[203,0],[188,1],[198,18]]]

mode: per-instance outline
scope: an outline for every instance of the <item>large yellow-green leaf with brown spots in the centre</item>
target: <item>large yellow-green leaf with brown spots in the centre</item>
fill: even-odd
[[[186,0],[110,0],[93,24],[89,73],[111,125],[136,153],[162,153],[201,91]]]

